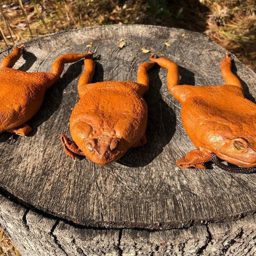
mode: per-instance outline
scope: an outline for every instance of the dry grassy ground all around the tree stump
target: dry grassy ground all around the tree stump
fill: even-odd
[[[0,49],[85,26],[151,24],[206,34],[256,72],[255,11],[255,0],[1,0]],[[2,255],[19,254],[0,229]]]

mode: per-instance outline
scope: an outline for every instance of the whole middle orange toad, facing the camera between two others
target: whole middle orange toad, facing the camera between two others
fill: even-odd
[[[136,82],[107,81],[91,84],[95,63],[85,58],[85,72],[78,83],[80,100],[70,117],[73,141],[64,134],[61,143],[67,155],[84,155],[106,165],[122,157],[130,147],[146,143],[147,105],[143,99],[148,90],[147,71],[153,62],[138,68]]]

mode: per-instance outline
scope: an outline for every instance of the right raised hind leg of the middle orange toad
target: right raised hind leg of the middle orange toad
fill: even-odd
[[[149,77],[147,71],[155,65],[154,62],[143,62],[138,68],[137,83],[141,84],[137,93],[143,96],[148,91]]]

